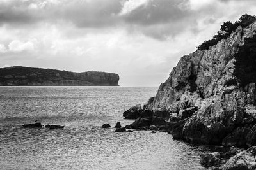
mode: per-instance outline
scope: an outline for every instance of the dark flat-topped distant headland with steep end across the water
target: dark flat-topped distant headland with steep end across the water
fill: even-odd
[[[56,69],[41,69],[33,67],[5,67],[0,69],[0,85],[108,85],[118,86],[118,74],[98,71],[74,73]]]

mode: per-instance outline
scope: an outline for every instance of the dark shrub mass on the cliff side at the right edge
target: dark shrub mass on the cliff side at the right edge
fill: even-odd
[[[244,45],[239,47],[234,55],[235,75],[244,87],[248,83],[256,82],[256,35],[244,38]]]

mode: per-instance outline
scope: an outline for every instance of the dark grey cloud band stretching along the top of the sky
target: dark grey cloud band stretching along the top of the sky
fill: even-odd
[[[203,20],[204,25],[210,25],[226,15],[225,11],[216,12],[218,5],[214,1],[204,8],[194,9],[191,0],[149,0],[146,4],[120,14],[124,4],[129,1],[132,0],[0,0],[0,25],[17,27],[65,21],[79,28],[120,26],[163,40],[186,30],[196,34],[200,31],[198,20]],[[237,0],[218,0],[220,3],[229,1]]]

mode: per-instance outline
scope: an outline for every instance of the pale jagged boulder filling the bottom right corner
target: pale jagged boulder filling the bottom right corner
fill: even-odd
[[[246,170],[253,170],[256,169],[256,162],[255,158],[252,155],[252,152],[256,150],[255,146],[252,148],[248,148],[248,150],[244,150],[234,157],[231,157],[221,170],[239,170],[239,169],[246,169]]]

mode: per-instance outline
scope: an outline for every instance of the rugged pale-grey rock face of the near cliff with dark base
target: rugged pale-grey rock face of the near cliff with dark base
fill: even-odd
[[[227,146],[244,145],[236,140],[246,139],[246,145],[255,145],[256,84],[241,85],[235,72],[239,47],[255,34],[256,22],[239,26],[209,50],[181,57],[131,128],[156,125],[154,120],[161,118],[168,120],[167,131],[175,139],[214,145],[224,142]],[[162,120],[160,124],[164,124]],[[240,132],[248,132],[248,136]]]

